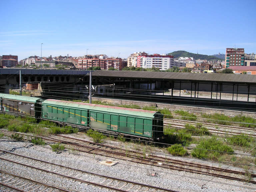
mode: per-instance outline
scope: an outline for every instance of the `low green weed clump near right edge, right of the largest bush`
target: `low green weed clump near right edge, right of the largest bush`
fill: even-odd
[[[232,145],[249,147],[253,142],[253,138],[249,137],[246,134],[239,134],[239,135],[233,135],[232,137],[228,137],[227,141]]]

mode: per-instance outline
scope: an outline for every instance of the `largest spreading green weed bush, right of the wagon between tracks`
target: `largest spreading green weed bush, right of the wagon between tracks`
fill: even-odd
[[[224,144],[222,140],[216,137],[204,139],[193,149],[191,155],[199,159],[212,159],[218,158],[224,153],[233,153],[234,150],[228,145]]]

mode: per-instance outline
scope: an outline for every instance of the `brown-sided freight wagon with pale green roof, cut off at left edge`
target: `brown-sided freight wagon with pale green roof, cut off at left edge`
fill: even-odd
[[[41,102],[39,97],[28,97],[0,93],[0,110],[16,115],[41,117]]]

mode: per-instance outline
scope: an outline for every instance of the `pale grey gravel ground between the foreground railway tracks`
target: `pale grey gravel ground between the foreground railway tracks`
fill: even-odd
[[[58,163],[65,166],[82,169],[85,171],[95,172],[107,176],[118,177],[134,182],[150,184],[182,192],[255,192],[256,190],[255,184],[244,183],[239,181],[230,181],[222,178],[214,178],[212,181],[215,182],[208,182],[205,186],[206,188],[202,189],[201,186],[204,183],[206,183],[207,180],[212,179],[212,176],[187,173],[183,171],[167,170],[161,167],[141,165],[118,159],[110,159],[116,160],[119,163],[116,164],[115,166],[108,167],[99,164],[99,162],[101,162],[102,160],[109,159],[107,157],[67,150],[64,150],[60,154],[56,154],[56,152],[52,152],[50,147],[47,145],[43,147],[31,146],[31,143],[13,142],[6,140],[6,138],[0,139],[0,149],[12,150],[14,153],[17,154],[38,158],[41,160]],[[98,188],[92,185],[87,185],[84,183],[63,179],[53,174],[35,171],[32,168],[22,167],[20,165],[9,163],[3,160],[0,160],[0,169],[21,176],[29,176],[31,178],[38,179],[39,181],[42,182],[47,181],[50,184],[54,184],[59,187],[69,188],[74,191],[110,191],[105,188]],[[152,174],[155,176],[152,176]],[[221,182],[222,184],[216,182]],[[233,185],[239,185],[242,187],[248,187],[253,189],[235,187]],[[0,188],[0,190],[1,189],[3,188]]]

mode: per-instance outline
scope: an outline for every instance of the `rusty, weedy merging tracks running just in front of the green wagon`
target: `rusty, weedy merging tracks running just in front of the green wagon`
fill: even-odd
[[[1,131],[3,132],[3,130]],[[5,131],[4,134],[10,135],[11,133],[8,133],[8,131]],[[27,140],[30,140],[31,138],[31,136],[27,134],[21,134],[21,135],[26,136],[27,138],[24,137],[24,139],[27,139]],[[226,179],[250,182],[250,183],[256,184],[256,181],[254,181],[253,179],[248,179],[246,177],[247,174],[245,172],[239,172],[239,171],[234,171],[229,169],[226,170],[219,167],[201,165],[199,163],[190,163],[190,162],[184,162],[179,160],[173,160],[170,158],[163,158],[155,155],[146,156],[146,154],[142,152],[124,150],[124,149],[116,148],[113,146],[93,143],[93,142],[76,139],[72,137],[67,137],[67,136],[53,135],[51,137],[41,137],[41,138],[48,142],[59,142],[59,143],[72,145],[73,146],[72,149],[75,148],[75,150],[77,151],[90,153],[94,155],[102,155],[102,156],[111,157],[115,159],[129,160],[135,163],[159,166],[159,167],[168,168],[172,170],[186,171],[186,172],[210,175],[210,176],[215,176],[220,178],[226,178]],[[253,177],[256,177],[256,174],[251,174],[251,178]]]

